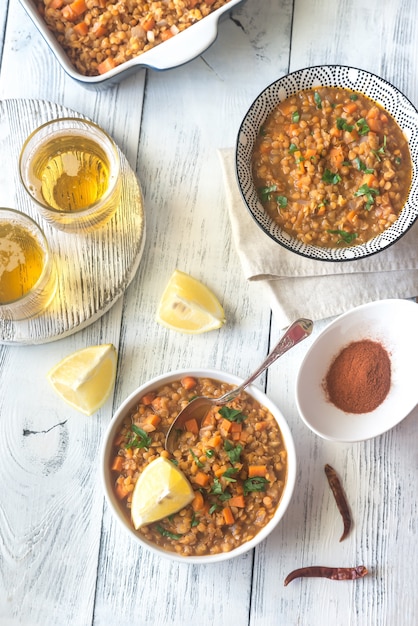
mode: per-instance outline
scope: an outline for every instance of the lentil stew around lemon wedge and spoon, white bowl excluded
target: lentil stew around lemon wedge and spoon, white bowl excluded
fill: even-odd
[[[273,517],[287,476],[279,426],[246,392],[228,404],[235,416],[225,417],[228,410],[215,406],[198,432],[182,431],[170,456],[164,440],[178,412],[196,395],[220,397],[232,388],[209,378],[194,378],[191,387],[190,379],[162,385],[141,398],[115,438],[112,461],[115,493],[129,519],[135,483],[151,461],[166,456],[184,472],[195,490],[192,503],[136,532],[186,557],[229,552],[252,539]],[[146,446],[138,440],[132,445],[133,425],[147,433]]]

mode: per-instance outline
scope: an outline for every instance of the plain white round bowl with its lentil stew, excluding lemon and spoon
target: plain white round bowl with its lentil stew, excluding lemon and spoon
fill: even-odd
[[[165,434],[187,402],[196,395],[219,397],[241,382],[216,370],[179,370],[142,385],[116,411],[102,448],[104,492],[140,545],[178,561],[218,562],[254,548],[283,517],[296,480],[295,447],[285,418],[257,387],[221,414],[215,407],[197,432],[183,432],[172,456],[164,449]],[[183,471],[195,498],[175,515],[135,530],[133,489],[159,456]]]

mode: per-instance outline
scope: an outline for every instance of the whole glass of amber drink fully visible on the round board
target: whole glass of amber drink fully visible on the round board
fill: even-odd
[[[55,119],[37,128],[23,145],[19,168],[40,214],[60,230],[95,230],[120,202],[118,149],[88,120]]]

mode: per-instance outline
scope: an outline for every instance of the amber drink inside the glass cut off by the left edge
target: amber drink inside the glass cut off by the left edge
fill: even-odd
[[[0,304],[28,293],[39,280],[44,261],[44,251],[29,230],[0,223]]]

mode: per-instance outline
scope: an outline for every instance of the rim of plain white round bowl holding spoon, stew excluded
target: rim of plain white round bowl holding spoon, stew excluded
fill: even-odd
[[[102,455],[101,455],[101,473],[102,473],[102,481],[104,487],[104,493],[106,496],[107,503],[109,508],[117,521],[123,526],[123,528],[131,535],[134,541],[138,542],[145,548],[150,549],[156,554],[159,554],[164,557],[168,557],[175,561],[187,562],[187,563],[217,563],[219,561],[225,561],[227,559],[231,559],[233,557],[239,556],[254,548],[258,543],[260,543],[263,539],[267,537],[271,533],[271,531],[277,526],[281,518],[283,517],[289,502],[291,500],[295,481],[296,481],[296,452],[295,446],[293,443],[292,434],[290,432],[289,426],[279,409],[269,400],[269,398],[259,389],[254,386],[247,387],[246,391],[253,398],[255,398],[258,402],[260,402],[263,406],[265,406],[275,417],[280,431],[282,433],[284,444],[287,450],[288,457],[288,473],[286,486],[280,500],[279,506],[274,514],[274,517],[270,520],[270,522],[260,530],[260,532],[247,543],[242,544],[235,550],[231,550],[231,552],[222,553],[222,554],[214,554],[207,556],[187,556],[183,557],[179,554],[175,554],[173,552],[169,552],[167,550],[163,550],[155,546],[154,544],[147,542],[142,536],[140,536],[131,526],[126,516],[124,515],[121,505],[114,494],[114,490],[112,488],[114,475],[112,476],[112,472],[110,471],[111,464],[111,455],[112,455],[112,446],[113,440],[115,438],[116,433],[118,432],[120,425],[123,419],[129,414],[132,409],[137,405],[139,399],[146,393],[151,390],[154,390],[161,386],[161,384],[165,382],[172,382],[174,380],[180,380],[185,375],[191,375],[196,377],[208,377],[214,380],[221,380],[233,385],[239,385],[242,383],[242,379],[233,376],[231,374],[227,374],[225,372],[220,372],[217,370],[178,370],[175,372],[170,372],[169,374],[163,374],[158,376],[149,382],[141,385],[138,389],[136,389],[131,395],[121,404],[121,406],[116,411],[113,416],[107,432],[104,437],[103,447],[102,447]]]

